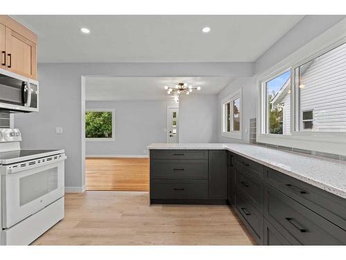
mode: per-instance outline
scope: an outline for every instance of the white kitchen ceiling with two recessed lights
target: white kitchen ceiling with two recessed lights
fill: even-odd
[[[254,62],[302,15],[12,15],[39,62]],[[209,26],[210,33],[201,28]],[[80,33],[90,28],[89,35]]]

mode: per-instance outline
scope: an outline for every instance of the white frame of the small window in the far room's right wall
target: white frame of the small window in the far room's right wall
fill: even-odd
[[[228,137],[233,139],[242,139],[242,122],[243,122],[243,107],[242,107],[242,88],[233,92],[229,96],[226,96],[221,101],[221,136]],[[233,102],[239,99],[239,108],[240,108],[240,116],[239,116],[239,130],[233,130]],[[230,103],[230,132],[225,131],[226,125],[226,104]]]

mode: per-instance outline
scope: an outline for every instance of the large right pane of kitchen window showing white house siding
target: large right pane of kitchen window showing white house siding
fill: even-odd
[[[346,132],[346,44],[295,67],[296,130]]]

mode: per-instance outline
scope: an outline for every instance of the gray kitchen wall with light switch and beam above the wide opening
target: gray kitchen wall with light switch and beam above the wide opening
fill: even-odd
[[[39,112],[16,114],[23,148],[63,148],[65,186],[82,187],[81,76],[250,76],[250,62],[46,63],[39,64]],[[55,127],[64,128],[61,135]]]

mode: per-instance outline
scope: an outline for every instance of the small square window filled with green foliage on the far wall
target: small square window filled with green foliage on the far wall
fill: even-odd
[[[114,141],[115,111],[88,109],[85,112],[85,138],[88,141]]]

